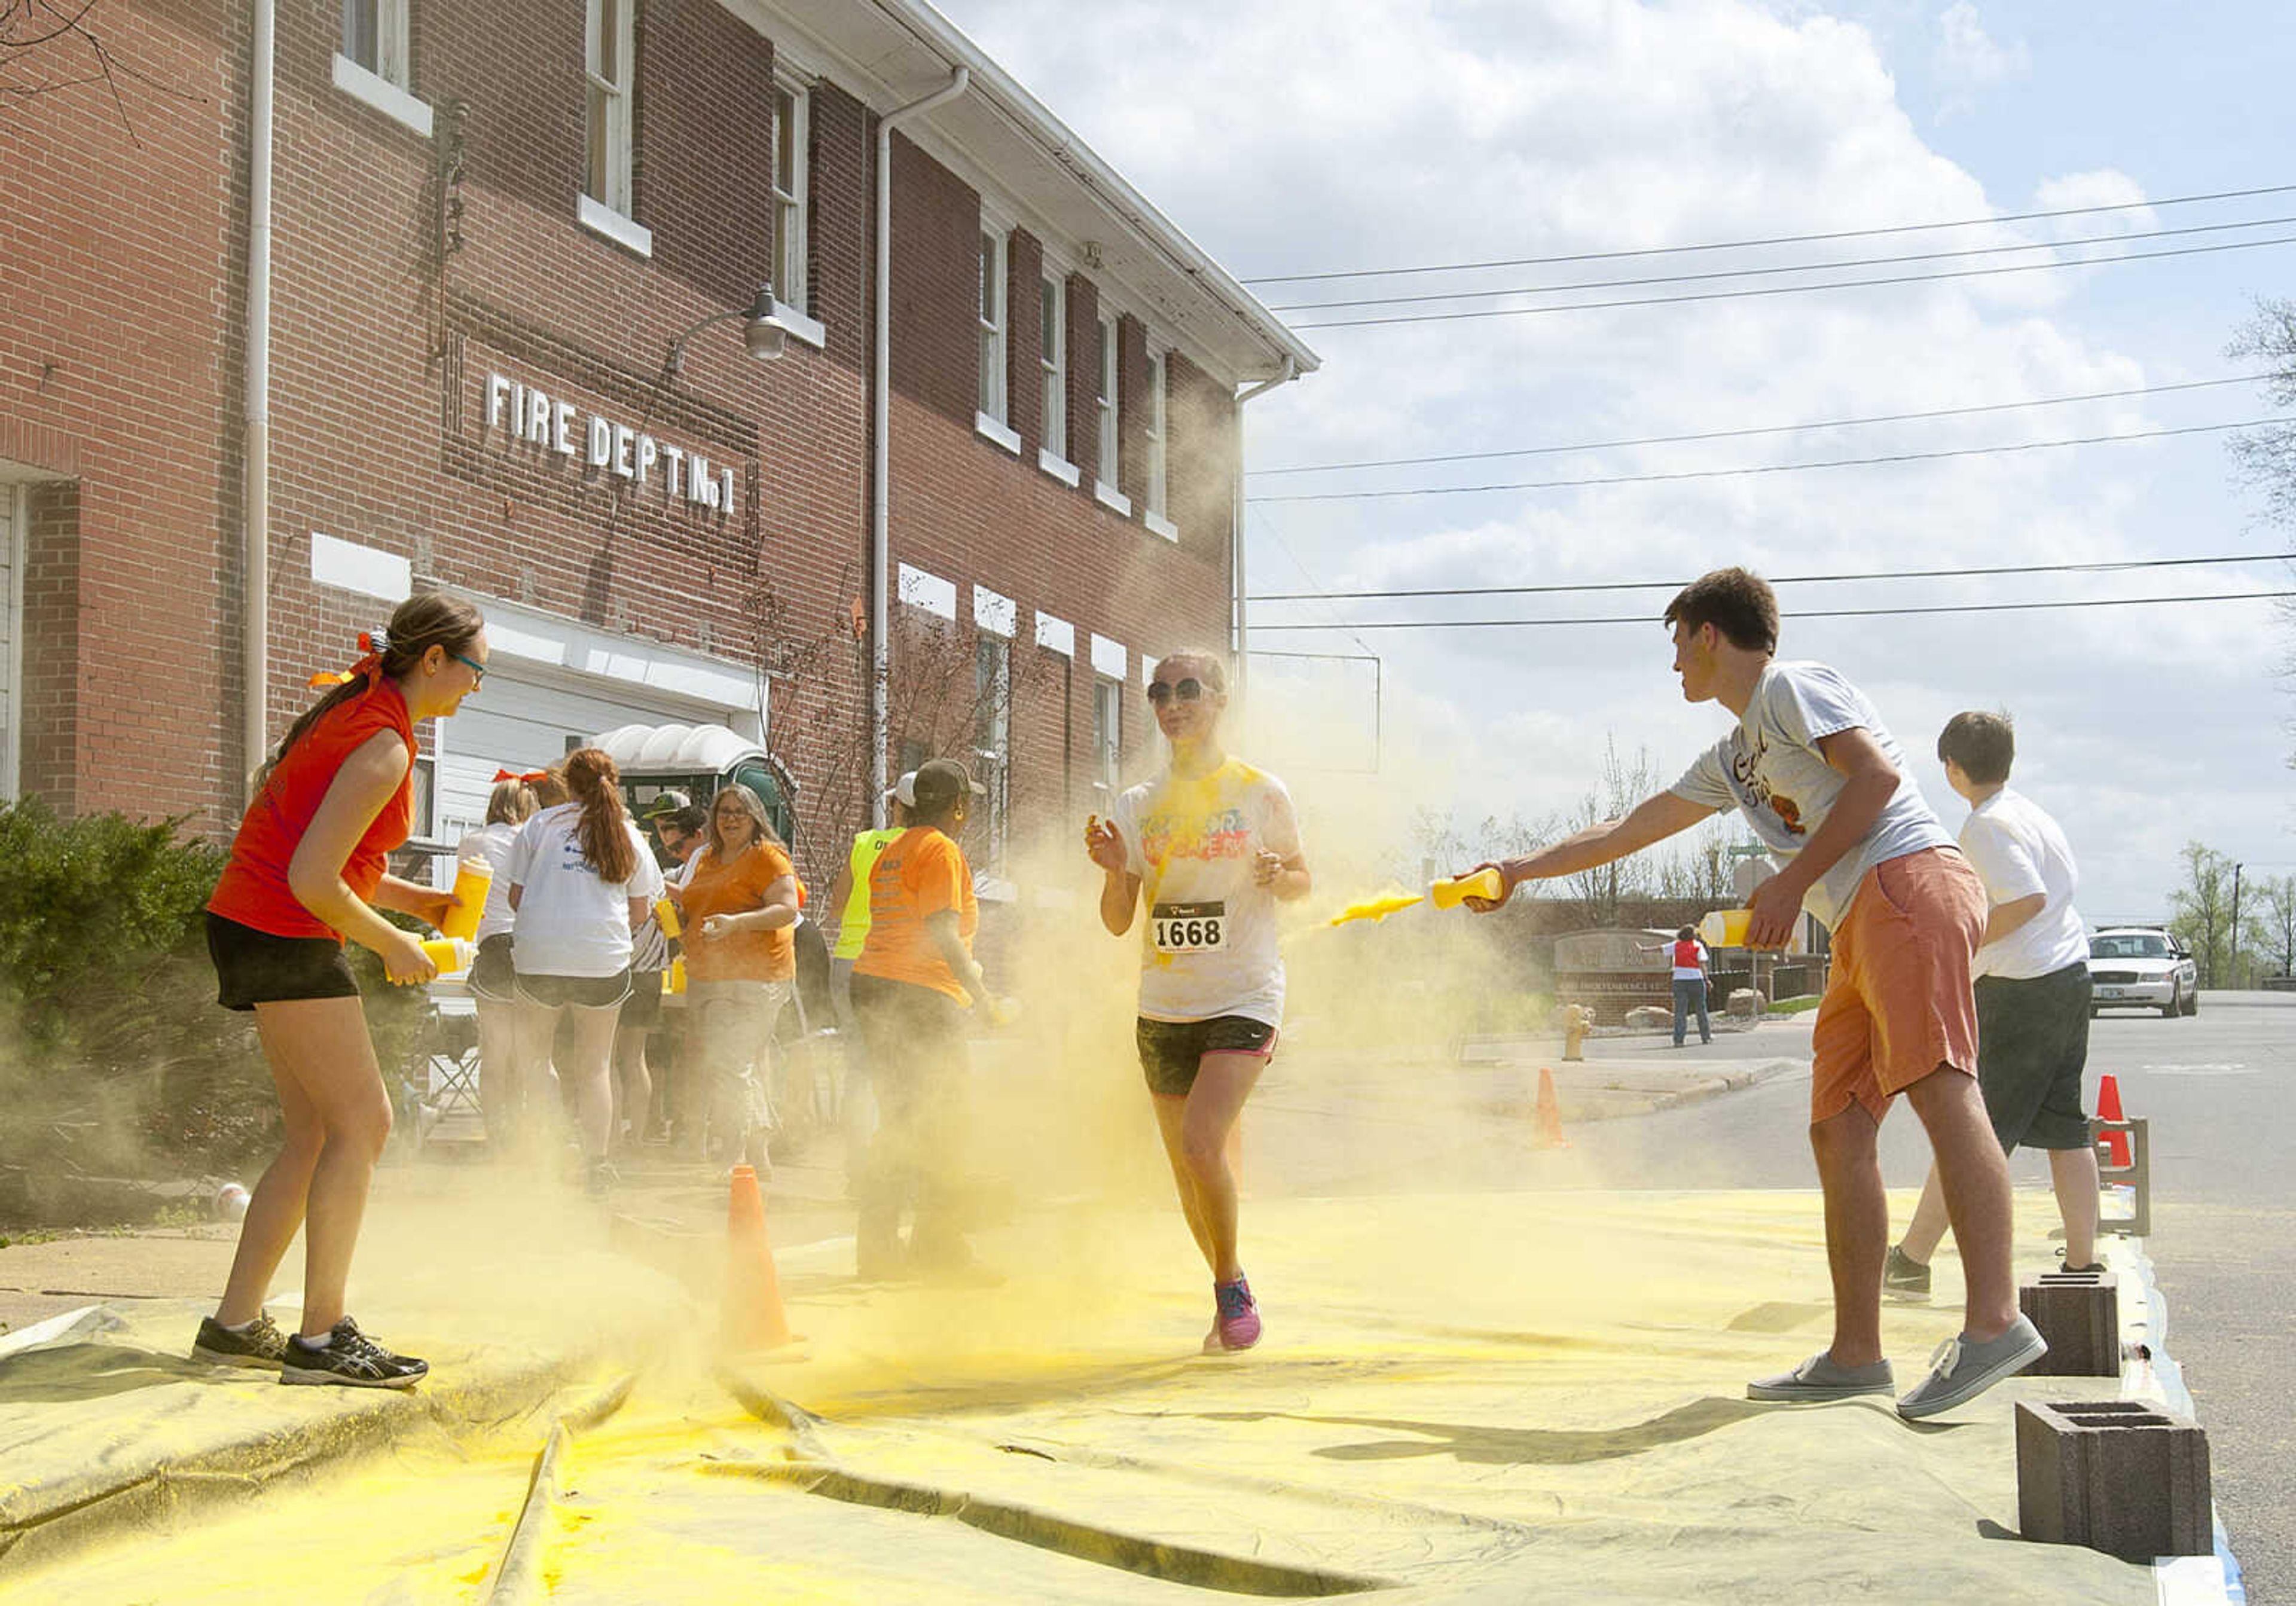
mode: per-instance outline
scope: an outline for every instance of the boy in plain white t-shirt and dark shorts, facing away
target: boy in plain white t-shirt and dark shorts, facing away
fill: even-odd
[[[2064,1264],[2096,1266],[2096,1149],[2080,1103],[2089,1064],[2089,937],[2073,908],[2080,868],[2064,832],[2009,790],[2016,733],[2002,715],[1954,715],[1938,735],[1947,783],[1970,804],[1961,852],[1986,885],[1977,949],[1977,1084],[2002,1153],[2048,1151],[2064,1215]],[[1929,1257],[1945,1236],[1945,1197],[1931,1167],[1906,1238],[1890,1250],[1883,1289],[1929,1298]]]

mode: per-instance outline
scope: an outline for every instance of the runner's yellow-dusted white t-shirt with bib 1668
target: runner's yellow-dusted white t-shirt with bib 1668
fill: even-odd
[[[1139,1011],[1281,1027],[1277,896],[1251,880],[1251,866],[1261,852],[1300,852],[1283,781],[1240,758],[1201,779],[1166,770],[1116,800],[1116,829],[1125,868],[1141,878]]]

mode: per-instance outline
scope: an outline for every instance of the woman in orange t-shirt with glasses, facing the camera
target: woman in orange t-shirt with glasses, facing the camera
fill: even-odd
[[[670,896],[687,914],[689,1043],[703,1068],[712,1137],[735,1163],[774,1169],[765,1140],[774,1119],[769,1043],[797,983],[797,868],[765,804],[728,786],[709,804],[709,846]],[[714,1156],[712,1156],[714,1158]]]

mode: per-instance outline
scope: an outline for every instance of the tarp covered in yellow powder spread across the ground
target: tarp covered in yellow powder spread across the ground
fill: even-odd
[[[2053,1206],[2020,1209],[2037,1238]],[[2149,1567],[2014,1537],[2014,1402],[2110,1381],[2020,1379],[1929,1424],[1743,1397],[1823,1344],[1802,1192],[1256,1204],[1267,1339],[1221,1358],[1196,1356],[1201,1268],[1162,1202],[985,1231],[999,1289],[859,1284],[843,1243],[785,1248],[808,1337],[730,1379],[682,1342],[705,1310],[537,1248],[489,1241],[514,1271],[484,1287],[450,1252],[420,1317],[383,1277],[411,1346],[558,1289],[519,1342],[434,1351],[413,1397],[191,1369],[186,1307],[0,1365],[0,1599],[487,1599],[519,1569],[558,1601],[2156,1599]],[[1952,1326],[1885,1312],[1901,1385]],[[618,1415],[553,1429],[625,1372]]]

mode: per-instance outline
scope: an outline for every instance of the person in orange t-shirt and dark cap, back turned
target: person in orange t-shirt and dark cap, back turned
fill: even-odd
[[[996,1011],[971,942],[980,926],[974,871],[957,846],[971,813],[964,765],[916,767],[909,829],[868,873],[868,937],[854,960],[852,999],[877,1091],[879,1126],[856,1181],[854,1259],[863,1277],[909,1266],[962,1273],[974,1264],[957,1213],[964,1149],[964,1011]],[[905,1204],[916,1206],[907,1245]]]

